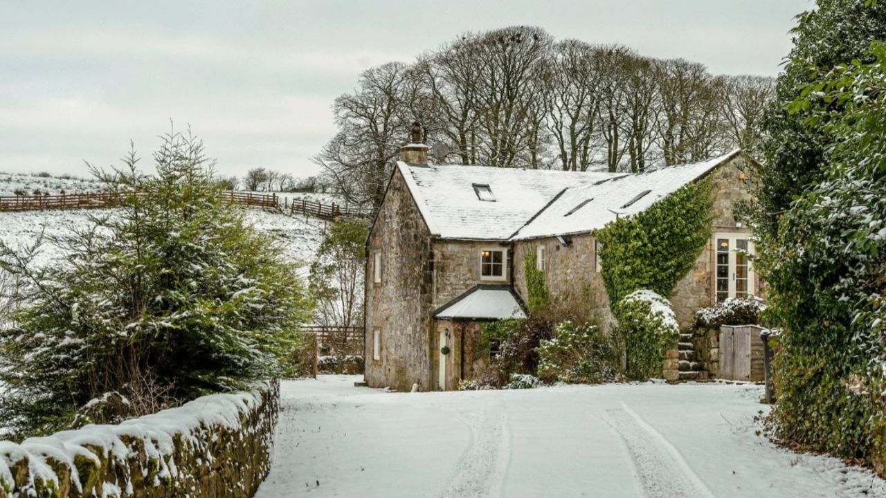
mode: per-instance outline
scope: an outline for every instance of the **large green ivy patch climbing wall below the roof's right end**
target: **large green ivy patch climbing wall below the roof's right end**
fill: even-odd
[[[711,238],[711,176],[595,232],[610,307],[639,289],[671,295]]]

